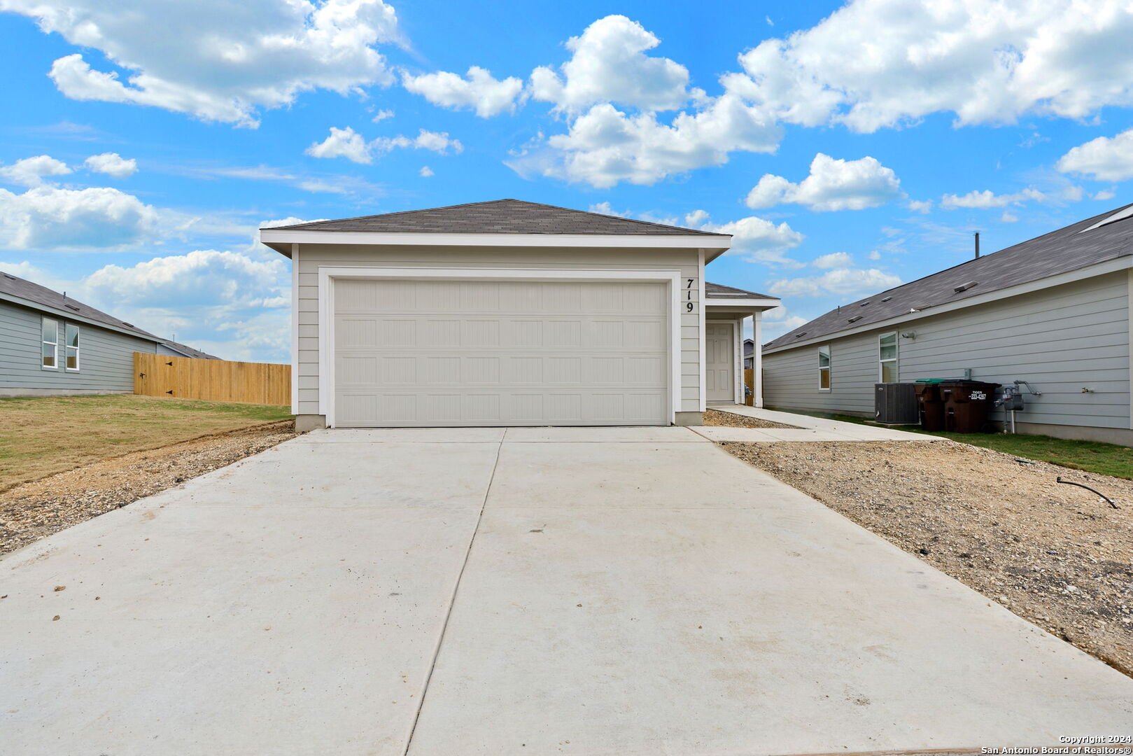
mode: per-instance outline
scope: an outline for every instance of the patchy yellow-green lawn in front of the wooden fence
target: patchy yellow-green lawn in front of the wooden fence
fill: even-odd
[[[0,399],[0,491],[100,459],[290,417],[288,407],[134,394]]]

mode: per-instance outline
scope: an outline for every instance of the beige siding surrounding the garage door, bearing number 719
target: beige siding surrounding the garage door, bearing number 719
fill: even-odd
[[[696,312],[681,312],[681,411],[700,410],[700,265],[696,249],[375,247],[298,245],[298,414],[318,411],[318,269],[322,267],[508,267],[591,270],[678,270],[693,279]]]

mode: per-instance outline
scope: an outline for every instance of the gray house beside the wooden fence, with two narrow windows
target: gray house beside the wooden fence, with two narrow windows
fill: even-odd
[[[135,351],[216,359],[0,272],[0,397],[133,393]]]

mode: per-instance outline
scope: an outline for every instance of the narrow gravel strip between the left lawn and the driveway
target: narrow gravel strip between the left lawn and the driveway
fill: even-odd
[[[267,423],[136,451],[18,485],[0,493],[0,554],[296,435],[293,421]]]

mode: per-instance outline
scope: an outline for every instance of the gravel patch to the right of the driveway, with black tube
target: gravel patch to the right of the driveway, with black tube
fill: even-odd
[[[721,445],[1133,677],[1133,481],[953,441]]]

